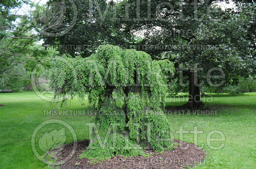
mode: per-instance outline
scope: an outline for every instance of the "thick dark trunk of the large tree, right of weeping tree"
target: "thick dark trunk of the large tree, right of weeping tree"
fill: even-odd
[[[180,107],[199,108],[204,106],[200,99],[200,88],[198,77],[194,76],[193,72],[187,71],[189,80],[189,99],[188,102]]]

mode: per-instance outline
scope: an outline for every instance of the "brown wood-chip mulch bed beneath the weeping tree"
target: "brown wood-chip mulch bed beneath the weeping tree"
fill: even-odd
[[[157,153],[154,151],[148,152],[148,158],[137,156],[133,158],[124,158],[122,156],[115,156],[109,160],[101,161],[100,163],[90,165],[90,160],[78,157],[89,145],[89,140],[77,142],[77,149],[73,156],[68,159],[60,168],[186,168],[188,166],[195,166],[199,162],[203,162],[205,153],[196,145],[174,140],[177,144],[173,150],[164,151],[164,153]],[[72,150],[73,143],[66,144],[61,154],[68,156]]]

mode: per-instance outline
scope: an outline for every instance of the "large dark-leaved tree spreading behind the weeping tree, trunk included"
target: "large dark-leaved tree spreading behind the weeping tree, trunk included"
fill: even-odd
[[[210,68],[223,69],[227,84],[231,82],[234,73],[242,76],[253,73],[255,54],[252,50],[252,38],[248,39],[251,32],[249,30],[254,30],[252,25],[255,19],[255,4],[253,3],[243,2],[244,5],[236,5],[236,10],[226,9],[220,12],[219,7],[210,5],[214,2],[212,0],[199,1],[200,5],[196,5],[194,1],[184,1],[186,5],[172,1],[170,2],[172,9],[170,4],[166,3],[158,6],[164,1],[150,1],[151,8],[148,8],[148,1],[142,0],[138,12],[135,0],[122,1],[116,7],[111,5],[115,4],[112,2],[109,4],[105,1],[97,2],[93,3],[90,12],[89,7],[86,7],[87,1],[77,1],[78,8],[81,6],[78,10],[81,17],[77,18],[75,29],[56,39],[45,37],[45,44],[80,44],[94,47],[98,43],[111,43],[128,48],[136,45],[138,50],[149,53],[153,59],[169,59],[174,62],[175,67],[188,68],[187,71],[183,71],[184,75],[188,75],[189,94],[192,96],[190,102],[185,105],[188,107],[203,105],[199,96],[200,87],[195,83],[204,82],[207,85],[206,73]],[[180,13],[180,5],[182,13]],[[128,15],[125,9],[129,9]],[[105,10],[107,12],[104,13]],[[215,13],[209,14],[207,12],[209,10]],[[103,17],[103,14],[106,15]],[[138,39],[134,33],[140,31],[145,33]],[[140,45],[152,45],[153,48],[142,48]],[[159,45],[172,46],[172,48],[154,47]],[[79,49],[66,48],[60,51],[72,54],[79,52]],[[86,48],[80,53],[83,57],[87,57],[92,51]],[[199,78],[194,76],[193,68],[196,65],[199,70],[203,68],[202,71],[198,71]],[[212,75],[220,75],[220,73],[213,71]],[[218,82],[214,79],[212,81]]]

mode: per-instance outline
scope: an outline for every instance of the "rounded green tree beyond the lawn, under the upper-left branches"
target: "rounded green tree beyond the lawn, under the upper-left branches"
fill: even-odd
[[[18,45],[18,44],[17,44]],[[17,47],[18,48],[18,47]],[[13,64],[0,74],[0,89],[13,89],[14,91],[31,90],[31,73],[34,67],[44,58],[54,58],[58,55],[55,49],[47,48],[38,44],[38,42],[30,43],[26,46],[24,52],[19,53],[17,58],[5,61],[4,63]],[[14,56],[12,56],[14,57]],[[12,58],[10,57],[10,58]],[[19,62],[17,62],[19,60]],[[3,63],[3,64],[4,64]],[[50,63],[50,62],[49,62]],[[49,79],[49,72],[44,72],[50,69],[52,64],[48,62],[43,64],[42,70],[38,70],[37,78]],[[6,67],[5,67],[6,68]]]

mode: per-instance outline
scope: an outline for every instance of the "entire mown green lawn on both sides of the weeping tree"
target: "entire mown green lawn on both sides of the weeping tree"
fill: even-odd
[[[0,168],[45,168],[31,149],[31,136],[36,126],[48,119],[60,119],[69,123],[76,131],[77,139],[88,138],[85,122],[92,122],[92,116],[44,116],[43,110],[50,110],[52,105],[40,99],[35,93],[0,93]],[[182,103],[170,102],[168,106]],[[198,135],[198,145],[204,147],[206,163],[197,168],[256,168],[256,93],[242,96],[214,95],[213,102],[206,103],[208,109],[218,109],[217,116],[171,115],[167,116],[175,139],[179,135],[175,130],[203,130]],[[84,110],[78,99],[68,102],[68,109]],[[47,127],[46,129],[47,130]],[[226,141],[212,143],[220,150],[212,150],[206,144],[206,136],[212,130],[224,133]],[[212,135],[218,137],[218,135]],[[193,134],[184,134],[183,140],[194,142]],[[71,142],[67,136],[66,142]],[[204,146],[202,146],[204,144]],[[210,160],[213,160],[213,165]],[[208,161],[208,163],[207,163]]]

